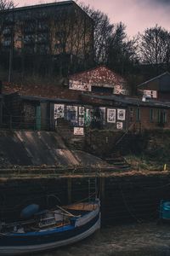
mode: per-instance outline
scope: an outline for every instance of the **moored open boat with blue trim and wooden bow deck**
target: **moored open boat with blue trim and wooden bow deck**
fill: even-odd
[[[29,207],[22,211],[28,212]],[[100,201],[75,203],[53,210],[35,211],[14,223],[0,223],[0,255],[37,253],[67,246],[92,235],[100,228]],[[33,209],[33,211],[32,211]]]

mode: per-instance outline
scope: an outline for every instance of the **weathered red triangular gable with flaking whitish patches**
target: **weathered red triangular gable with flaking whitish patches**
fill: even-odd
[[[104,66],[95,67],[81,73],[75,73],[70,76],[70,80],[81,81],[85,84],[92,84],[97,86],[101,86],[104,84],[114,86],[126,83],[126,80],[123,79],[122,76]]]

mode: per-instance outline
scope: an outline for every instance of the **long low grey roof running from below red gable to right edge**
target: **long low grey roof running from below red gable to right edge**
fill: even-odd
[[[122,104],[131,106],[143,106],[143,107],[155,107],[155,108],[170,108],[170,103],[158,102],[155,100],[150,100],[148,102],[143,102],[140,98],[127,97],[127,96],[99,96],[90,95],[83,93],[82,96],[87,96],[88,98],[96,98],[105,101],[120,102]]]

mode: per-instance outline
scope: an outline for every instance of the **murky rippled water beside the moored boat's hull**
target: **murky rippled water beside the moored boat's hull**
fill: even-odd
[[[33,255],[33,254],[31,254]],[[169,256],[170,225],[128,224],[103,228],[84,241],[37,256]]]

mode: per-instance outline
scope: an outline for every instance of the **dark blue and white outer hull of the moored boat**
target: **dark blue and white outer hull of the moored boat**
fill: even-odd
[[[92,213],[92,212],[91,212]],[[91,236],[100,228],[99,209],[94,211],[88,223],[73,227],[68,225],[65,230],[55,229],[51,233],[39,232],[37,236],[0,236],[0,255],[20,255],[36,253],[57,247],[63,247]],[[44,233],[44,234],[43,234]],[[35,233],[36,234],[36,233]],[[3,241],[2,241],[3,239]],[[5,242],[6,241],[6,242]],[[4,246],[3,246],[4,245]]]

